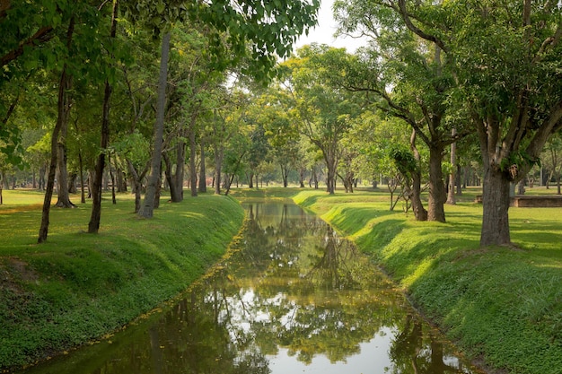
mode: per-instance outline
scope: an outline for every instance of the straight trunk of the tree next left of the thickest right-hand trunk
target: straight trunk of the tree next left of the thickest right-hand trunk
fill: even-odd
[[[443,148],[429,149],[429,199],[427,221],[445,222],[444,203],[447,199],[443,184]]]

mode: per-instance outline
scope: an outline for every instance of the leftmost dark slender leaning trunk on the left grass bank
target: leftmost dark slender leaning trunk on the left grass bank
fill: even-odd
[[[75,31],[75,18],[71,18],[66,32],[66,47],[70,48],[72,42],[72,34]],[[60,74],[60,81],[58,83],[58,101],[57,101],[57,124],[53,129],[51,137],[51,161],[48,166],[48,179],[47,189],[45,191],[45,199],[43,200],[43,210],[41,213],[41,225],[39,230],[38,243],[43,243],[47,240],[48,236],[48,217],[50,213],[51,198],[53,197],[53,189],[55,187],[55,176],[57,174],[57,151],[58,151],[58,137],[63,122],[68,120],[70,112],[70,103],[67,91],[70,89],[71,78],[66,74],[66,65],[63,67],[63,72]]]

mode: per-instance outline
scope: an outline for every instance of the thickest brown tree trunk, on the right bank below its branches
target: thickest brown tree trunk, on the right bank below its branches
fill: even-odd
[[[486,163],[484,168],[480,246],[510,244],[508,216],[510,181],[498,168]]]

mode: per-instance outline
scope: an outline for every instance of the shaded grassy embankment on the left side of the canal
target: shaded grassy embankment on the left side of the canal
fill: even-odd
[[[223,256],[243,220],[224,196],[164,203],[139,220],[131,196],[103,202],[101,230],[84,233],[91,205],[51,209],[37,245],[43,195],[4,190],[0,205],[0,370],[108,334],[175,297]],[[78,200],[78,198],[75,198]]]

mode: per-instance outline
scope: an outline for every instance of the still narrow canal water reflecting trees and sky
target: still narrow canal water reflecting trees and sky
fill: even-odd
[[[295,204],[244,204],[233,252],[133,326],[25,374],[476,374],[347,240]]]

